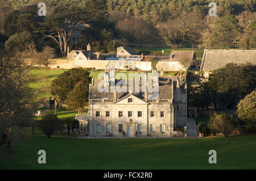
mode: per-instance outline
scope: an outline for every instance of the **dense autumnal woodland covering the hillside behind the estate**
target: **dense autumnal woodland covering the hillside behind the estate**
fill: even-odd
[[[20,37],[17,33],[23,33],[25,40],[33,41],[30,48],[34,46],[42,52],[43,47],[49,46],[65,54],[65,43],[59,40],[56,43],[43,33],[56,35],[56,28],[50,26],[53,19],[75,18],[75,14],[78,23],[90,24],[90,28],[82,31],[80,44],[74,48],[84,49],[90,43],[102,53],[113,50],[113,44],[115,47],[192,47],[193,44],[199,48],[242,49],[254,49],[256,45],[254,0],[216,0],[217,16],[208,14],[211,0],[47,0],[45,18],[37,14],[39,2],[0,1],[2,46],[11,36],[16,36],[5,46],[7,51],[12,51],[12,45],[17,42],[23,44],[22,50],[26,49],[26,42],[17,40]],[[80,10],[75,10],[76,7]]]

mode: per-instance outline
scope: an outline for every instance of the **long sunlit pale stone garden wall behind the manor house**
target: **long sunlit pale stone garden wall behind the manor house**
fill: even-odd
[[[72,68],[95,68],[96,70],[104,70],[106,65],[109,62],[118,62],[118,61],[109,61],[109,60],[86,60],[86,61],[77,61],[77,60],[68,60],[68,59],[52,59],[52,62],[49,67],[50,68],[63,68],[63,69],[72,69]],[[122,62],[122,61],[119,61]],[[138,70],[150,71],[151,70],[151,62],[150,61],[128,61],[133,63],[133,65]],[[178,61],[170,61],[170,62],[162,62],[159,61],[156,65],[158,70],[165,71],[179,71],[184,70],[183,66]]]

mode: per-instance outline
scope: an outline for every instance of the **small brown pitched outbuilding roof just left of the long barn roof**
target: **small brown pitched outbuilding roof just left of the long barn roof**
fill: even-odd
[[[170,60],[181,61],[184,59],[196,60],[195,51],[183,51],[183,50],[172,50],[170,54]]]

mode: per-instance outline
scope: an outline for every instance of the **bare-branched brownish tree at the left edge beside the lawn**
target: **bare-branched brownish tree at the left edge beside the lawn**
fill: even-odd
[[[31,119],[26,110],[32,98],[26,86],[29,67],[22,60],[5,57],[0,59],[0,145],[12,152],[11,143],[20,128]]]

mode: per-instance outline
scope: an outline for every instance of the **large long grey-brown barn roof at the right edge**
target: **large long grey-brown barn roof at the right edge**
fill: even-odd
[[[210,71],[224,67],[226,64],[256,64],[256,50],[209,50],[206,49],[201,70]]]

